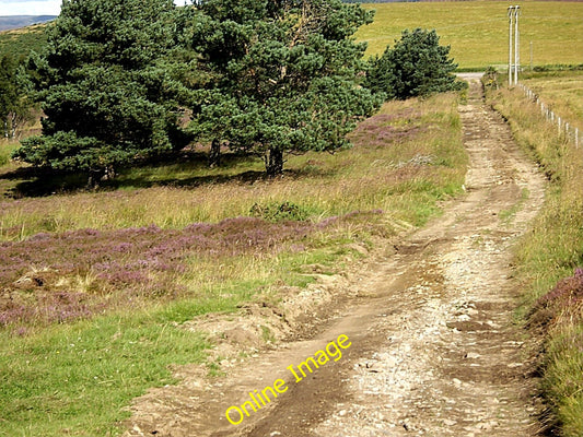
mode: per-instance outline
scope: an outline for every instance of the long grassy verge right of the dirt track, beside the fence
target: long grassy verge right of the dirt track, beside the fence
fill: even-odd
[[[547,88],[552,97],[551,88]],[[518,90],[489,93],[550,179],[543,211],[516,250],[529,324],[545,338],[543,392],[555,427],[583,435],[583,150],[557,135]],[[575,274],[573,275],[573,272]]]

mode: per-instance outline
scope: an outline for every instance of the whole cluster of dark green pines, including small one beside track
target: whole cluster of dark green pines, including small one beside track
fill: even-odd
[[[43,134],[14,157],[98,180],[201,141],[279,175],[290,153],[347,146],[386,98],[456,86],[434,32],[365,61],[353,35],[372,20],[341,0],[66,0],[27,66]]]

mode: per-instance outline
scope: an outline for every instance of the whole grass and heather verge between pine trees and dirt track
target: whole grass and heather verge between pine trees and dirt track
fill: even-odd
[[[207,363],[208,341],[182,322],[277,302],[313,265],[358,257],[353,243],[439,214],[464,181],[460,130],[456,95],[395,102],[353,149],[293,157],[282,179],[193,161],[98,192],[2,200],[0,436],[118,435],[131,399],[172,382],[171,364]]]

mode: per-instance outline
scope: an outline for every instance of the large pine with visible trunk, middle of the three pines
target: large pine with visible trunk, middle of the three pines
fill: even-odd
[[[380,101],[359,86],[372,21],[340,0],[207,0],[194,33],[207,81],[194,129],[264,158],[270,176],[285,155],[333,152]]]

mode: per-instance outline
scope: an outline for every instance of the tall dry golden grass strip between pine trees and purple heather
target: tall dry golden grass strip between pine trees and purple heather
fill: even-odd
[[[382,209],[387,220],[419,225],[435,212],[435,198],[456,193],[463,184],[466,158],[456,105],[453,94],[388,103],[353,133],[353,149],[292,156],[280,179],[240,177],[259,172],[261,163],[219,169],[194,165],[190,170],[185,165],[179,172],[160,165],[121,174],[125,189],[116,191],[0,200],[0,240],[80,228],[180,228],[249,215],[256,203],[282,202],[301,206],[312,221]],[[374,132],[366,131],[371,123]],[[133,188],[136,180],[151,187]]]

